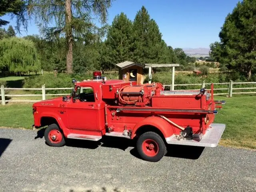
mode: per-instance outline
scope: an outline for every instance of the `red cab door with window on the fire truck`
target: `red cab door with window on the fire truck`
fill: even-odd
[[[79,130],[97,130],[97,114],[99,106],[96,104],[95,92],[90,87],[79,87],[76,99],[70,100],[68,111],[68,128]]]

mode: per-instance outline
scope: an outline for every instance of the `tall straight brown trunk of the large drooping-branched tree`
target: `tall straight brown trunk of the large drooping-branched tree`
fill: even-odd
[[[71,23],[71,0],[66,0],[66,72],[72,73],[73,62],[73,36]]]

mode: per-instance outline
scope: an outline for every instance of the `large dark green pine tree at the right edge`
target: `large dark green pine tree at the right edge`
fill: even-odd
[[[238,2],[221,28],[220,43],[210,45],[211,56],[251,77],[256,72],[256,0]]]

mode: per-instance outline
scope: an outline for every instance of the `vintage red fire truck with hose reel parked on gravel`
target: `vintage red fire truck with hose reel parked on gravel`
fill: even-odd
[[[70,96],[33,104],[34,128],[47,126],[50,146],[68,138],[98,141],[102,136],[136,139],[141,158],[156,162],[168,144],[215,147],[225,129],[214,124],[216,107],[211,90],[168,91],[162,84],[106,80],[74,82]]]

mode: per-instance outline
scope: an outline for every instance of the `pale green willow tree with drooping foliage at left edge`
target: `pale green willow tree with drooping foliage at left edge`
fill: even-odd
[[[0,40],[0,69],[10,72],[38,72],[40,60],[34,43],[23,38],[4,38]]]

